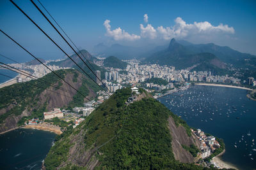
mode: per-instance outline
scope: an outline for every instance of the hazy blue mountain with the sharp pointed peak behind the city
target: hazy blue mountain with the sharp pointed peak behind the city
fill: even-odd
[[[177,43],[175,39],[170,41],[167,49],[154,53],[145,61],[159,65],[175,66],[177,69],[200,66],[203,69],[201,71],[209,71],[208,67],[211,66],[210,70],[213,72],[214,69],[225,69],[226,67],[225,63],[221,62],[214,54],[193,52],[186,46]]]

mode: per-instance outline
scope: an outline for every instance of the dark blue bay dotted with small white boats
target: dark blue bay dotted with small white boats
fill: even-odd
[[[189,126],[224,139],[226,152],[222,160],[241,169],[255,169],[256,101],[248,99],[247,93],[242,89],[195,85],[159,100]]]

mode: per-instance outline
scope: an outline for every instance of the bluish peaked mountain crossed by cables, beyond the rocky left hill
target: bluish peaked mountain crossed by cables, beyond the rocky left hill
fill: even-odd
[[[88,51],[86,50],[81,50],[80,52],[77,52],[80,57],[84,60],[84,62],[86,60],[93,62],[94,60],[97,60],[95,57],[93,57]],[[81,53],[83,55],[81,55]],[[85,59],[84,59],[84,57]],[[76,53],[74,53],[73,55],[70,56],[77,64],[79,64],[80,62],[82,62],[81,59],[79,59],[79,57],[76,55]],[[86,62],[87,63],[87,62]],[[65,59],[65,60],[61,60],[58,62],[50,62],[49,65],[55,65],[55,66],[60,66],[60,67],[73,67],[76,64],[74,64],[74,62],[72,62],[72,60],[70,60],[69,58]]]

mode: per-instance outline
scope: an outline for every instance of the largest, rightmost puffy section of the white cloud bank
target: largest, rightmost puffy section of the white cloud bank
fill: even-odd
[[[175,25],[173,27],[157,27],[161,38],[171,39],[171,38],[186,38],[193,35],[212,35],[212,34],[234,34],[235,30],[233,27],[228,27],[228,25],[220,24],[218,26],[213,26],[211,23],[205,22],[194,22],[193,24],[186,24],[182,18],[177,17],[175,19]]]

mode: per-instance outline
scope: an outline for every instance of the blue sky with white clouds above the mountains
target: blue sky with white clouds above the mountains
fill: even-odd
[[[42,6],[36,4],[42,9]],[[14,0],[67,53],[72,50],[29,0]],[[215,43],[256,55],[256,1],[58,1],[40,0],[79,48],[164,45],[170,39]],[[44,11],[45,12],[45,11]],[[47,15],[48,16],[48,15]],[[0,0],[0,29],[36,57],[59,59],[61,52],[10,1]],[[0,54],[31,60],[0,32]],[[0,57],[1,59],[1,57]]]

